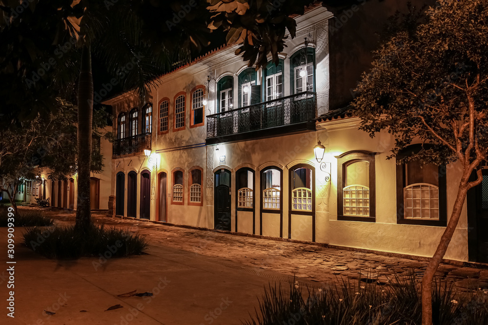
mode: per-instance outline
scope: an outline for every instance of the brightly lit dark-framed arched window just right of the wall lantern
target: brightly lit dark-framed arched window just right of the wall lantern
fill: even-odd
[[[347,152],[337,156],[338,220],[375,219],[375,153]]]

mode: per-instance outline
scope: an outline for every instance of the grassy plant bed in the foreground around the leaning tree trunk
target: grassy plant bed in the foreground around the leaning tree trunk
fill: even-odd
[[[414,275],[396,279],[402,286],[343,282],[336,289],[302,291],[271,287],[259,301],[259,311],[243,325],[421,325],[420,284]],[[458,293],[445,282],[432,292],[433,325],[488,324],[488,292]]]

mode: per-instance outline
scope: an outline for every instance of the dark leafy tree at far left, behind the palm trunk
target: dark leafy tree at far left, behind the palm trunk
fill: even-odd
[[[40,114],[21,123],[21,128],[0,129],[0,191],[5,191],[17,211],[15,196],[24,179],[38,179],[42,170],[48,170],[51,180],[65,179],[77,171],[76,108],[56,98],[56,114]],[[108,114],[95,114],[93,135],[108,137],[100,131],[106,126]],[[92,166],[103,166],[102,155],[92,153]],[[37,176],[37,177],[36,177]]]

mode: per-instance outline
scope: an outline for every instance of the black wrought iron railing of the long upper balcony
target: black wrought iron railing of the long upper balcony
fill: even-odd
[[[207,139],[308,122],[317,117],[317,95],[304,92],[207,116]]]

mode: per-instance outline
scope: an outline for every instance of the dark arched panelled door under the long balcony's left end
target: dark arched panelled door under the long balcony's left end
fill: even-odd
[[[229,230],[231,228],[230,214],[230,171],[222,168],[215,172],[215,211],[214,211],[214,228]]]

